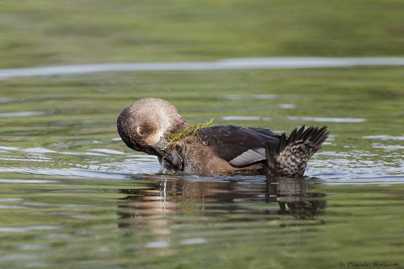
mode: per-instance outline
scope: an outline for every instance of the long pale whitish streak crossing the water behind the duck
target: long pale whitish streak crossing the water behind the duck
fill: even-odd
[[[87,74],[117,71],[189,71],[189,70],[236,70],[273,68],[339,68],[355,66],[404,66],[401,57],[374,58],[323,58],[323,57],[273,57],[239,58],[215,62],[167,62],[167,63],[114,63],[33,68],[0,69],[0,79]]]

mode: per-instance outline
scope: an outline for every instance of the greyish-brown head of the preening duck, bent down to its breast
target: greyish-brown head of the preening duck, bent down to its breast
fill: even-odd
[[[137,100],[117,120],[118,133],[128,147],[160,157],[168,136],[187,125],[174,105],[159,98]]]

